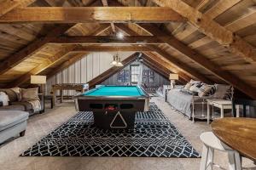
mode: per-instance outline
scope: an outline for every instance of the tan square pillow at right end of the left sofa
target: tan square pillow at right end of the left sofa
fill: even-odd
[[[39,100],[38,88],[20,88],[21,101]]]

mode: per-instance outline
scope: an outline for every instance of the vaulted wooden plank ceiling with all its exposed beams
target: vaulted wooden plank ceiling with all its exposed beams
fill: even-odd
[[[50,77],[90,52],[139,51],[162,74],[256,99],[255,11],[255,0],[0,0],[0,85]]]

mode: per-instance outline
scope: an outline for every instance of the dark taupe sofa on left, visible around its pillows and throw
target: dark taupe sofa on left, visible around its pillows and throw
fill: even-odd
[[[26,111],[29,113],[29,115],[33,115],[35,113],[35,111],[32,109],[32,105],[29,102],[19,101],[17,94],[12,89],[0,88],[0,92],[4,92],[9,96],[9,105],[0,106],[0,111]],[[40,112],[44,112],[44,96],[38,95],[38,97],[42,106],[42,111]]]

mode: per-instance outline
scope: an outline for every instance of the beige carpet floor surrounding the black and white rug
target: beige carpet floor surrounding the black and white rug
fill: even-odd
[[[152,98],[195,150],[201,153],[201,133],[211,131],[206,122],[191,122],[187,117],[173,111],[164,99]],[[198,170],[201,159],[197,158],[145,158],[145,157],[20,157],[19,155],[50,133],[55,127],[76,113],[72,102],[62,103],[44,114],[31,116],[22,138],[9,140],[0,145],[1,170]],[[216,152],[214,161],[227,167],[227,155]],[[256,170],[253,161],[242,159],[244,169]],[[214,168],[218,169],[218,168]]]

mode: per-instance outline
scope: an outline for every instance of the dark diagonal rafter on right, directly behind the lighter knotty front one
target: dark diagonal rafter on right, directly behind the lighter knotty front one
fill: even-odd
[[[195,63],[201,65],[207,71],[212,72],[213,75],[216,77],[224,80],[224,82],[228,82],[235,86],[236,88],[240,89],[243,93],[247,94],[248,96],[256,99],[256,90],[255,88],[251,87],[245,82],[242,82],[241,79],[236,77],[235,75],[230,74],[230,72],[223,71],[219,68],[219,65],[216,65],[207,57],[203,56],[202,54],[197,53],[195,50],[189,48],[183,42],[180,42],[177,40],[177,38],[172,37],[172,35],[169,35],[165,31],[161,31],[156,26],[151,26],[148,24],[140,25],[145,29],[146,31],[150,32],[154,36],[160,36],[163,40],[163,42],[166,42],[168,45],[170,45],[172,48],[177,49],[182,54],[185,54],[189,59],[193,60]]]

